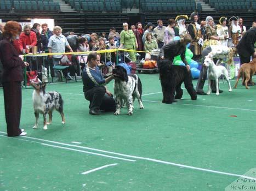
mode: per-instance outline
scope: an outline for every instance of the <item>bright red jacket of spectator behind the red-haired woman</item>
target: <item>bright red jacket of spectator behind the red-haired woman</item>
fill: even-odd
[[[24,32],[20,33],[19,38],[19,50],[22,52],[22,49],[26,49],[27,45],[36,46],[37,45],[37,39],[36,39],[36,33],[33,31],[30,31],[29,35],[26,35]],[[32,50],[32,49],[30,49]],[[27,50],[26,50],[27,52]]]

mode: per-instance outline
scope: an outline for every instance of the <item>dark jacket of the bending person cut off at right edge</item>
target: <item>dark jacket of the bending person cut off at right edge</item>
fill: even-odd
[[[254,43],[256,41],[256,27],[249,29],[241,38],[238,45],[236,46],[237,52],[243,57],[249,57],[253,55]]]

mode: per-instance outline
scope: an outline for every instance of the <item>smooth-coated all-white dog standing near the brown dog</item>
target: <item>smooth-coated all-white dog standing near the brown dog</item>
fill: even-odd
[[[232,88],[230,86],[229,81],[229,72],[223,65],[215,65],[211,55],[206,56],[204,59],[203,65],[208,67],[207,77],[208,77],[208,92],[207,95],[211,93],[211,80],[215,80],[216,82],[216,95],[219,95],[219,77],[224,75],[227,83],[229,83],[229,92],[232,92]]]

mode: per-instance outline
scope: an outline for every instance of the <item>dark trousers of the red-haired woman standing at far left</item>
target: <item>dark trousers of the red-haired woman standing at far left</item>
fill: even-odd
[[[21,85],[20,82],[4,82],[4,110],[7,123],[7,135],[18,136],[20,129],[21,114]]]

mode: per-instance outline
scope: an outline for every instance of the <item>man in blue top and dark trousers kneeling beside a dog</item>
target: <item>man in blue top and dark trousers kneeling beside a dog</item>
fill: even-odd
[[[98,63],[100,55],[91,52],[87,58],[87,65],[83,69],[83,92],[84,97],[90,101],[89,114],[99,115],[99,110],[116,111],[116,103],[112,94],[104,86],[113,80],[113,75],[103,78]]]

